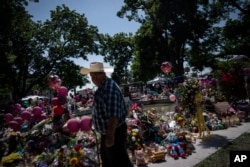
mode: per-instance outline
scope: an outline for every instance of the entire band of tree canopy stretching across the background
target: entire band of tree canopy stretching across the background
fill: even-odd
[[[34,2],[38,2],[36,0]],[[26,0],[1,1],[1,92],[25,96],[46,89],[51,74],[60,75],[69,89],[88,80],[73,60],[101,55],[114,67],[118,83],[131,77],[147,81],[163,75],[169,61],[173,74],[216,69],[217,61],[233,55],[249,57],[249,1],[243,0],[125,0],[117,16],[141,24],[135,34],[100,34],[84,14],[57,6],[44,22],[32,21]]]

